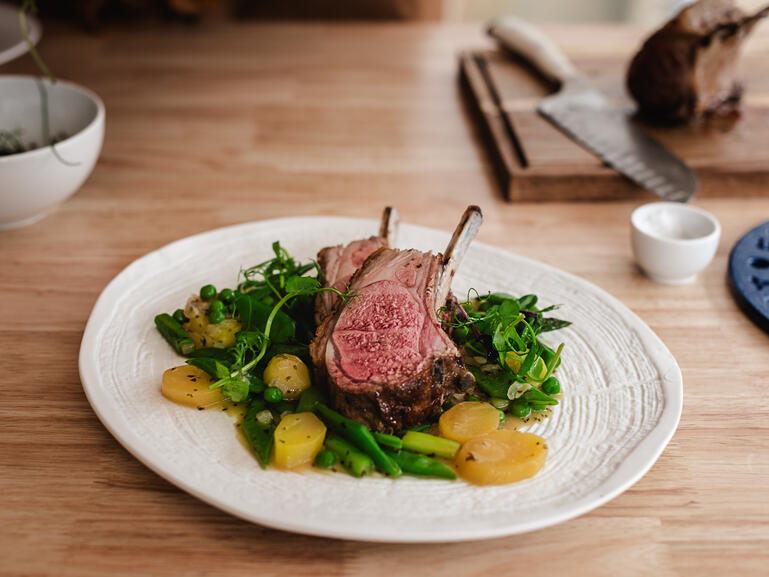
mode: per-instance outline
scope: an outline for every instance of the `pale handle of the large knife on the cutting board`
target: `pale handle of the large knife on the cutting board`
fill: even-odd
[[[528,22],[507,16],[493,21],[487,30],[502,46],[527,60],[543,76],[559,85],[579,76],[558,45]]]

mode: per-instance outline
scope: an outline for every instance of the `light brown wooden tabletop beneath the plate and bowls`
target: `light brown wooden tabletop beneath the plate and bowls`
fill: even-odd
[[[749,57],[769,42],[752,41]],[[624,28],[550,29],[572,55],[629,54]],[[105,31],[56,27],[41,49],[99,93],[107,133],[78,194],[0,233],[0,574],[766,575],[769,336],[733,303],[729,250],[769,218],[765,198],[695,204],[723,225],[696,283],[666,287],[633,263],[638,204],[506,204],[462,104],[456,55],[484,46],[449,25],[206,23]],[[28,58],[0,72],[33,72]],[[649,200],[652,200],[651,197]],[[678,359],[678,432],[634,487],[528,535],[378,545],[292,535],[235,519],[134,459],[95,417],[77,360],[109,280],[178,238],[286,215],[451,228],[470,202],[480,241],[608,290]]]

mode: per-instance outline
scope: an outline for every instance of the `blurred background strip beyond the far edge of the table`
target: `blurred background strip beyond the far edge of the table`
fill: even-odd
[[[631,22],[654,26],[687,0],[38,0],[46,17],[95,28],[132,19],[194,21],[213,15],[269,19],[482,21],[517,14],[533,22]],[[750,10],[765,0],[742,0]]]

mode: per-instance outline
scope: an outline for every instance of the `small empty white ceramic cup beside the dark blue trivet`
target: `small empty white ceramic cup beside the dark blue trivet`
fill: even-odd
[[[655,282],[685,284],[713,260],[721,225],[701,208],[677,202],[652,202],[630,217],[633,254]]]

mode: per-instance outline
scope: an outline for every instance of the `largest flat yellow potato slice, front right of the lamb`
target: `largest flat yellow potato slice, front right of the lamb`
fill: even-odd
[[[547,444],[532,433],[500,429],[467,441],[454,458],[460,477],[477,485],[528,479],[545,466]]]

